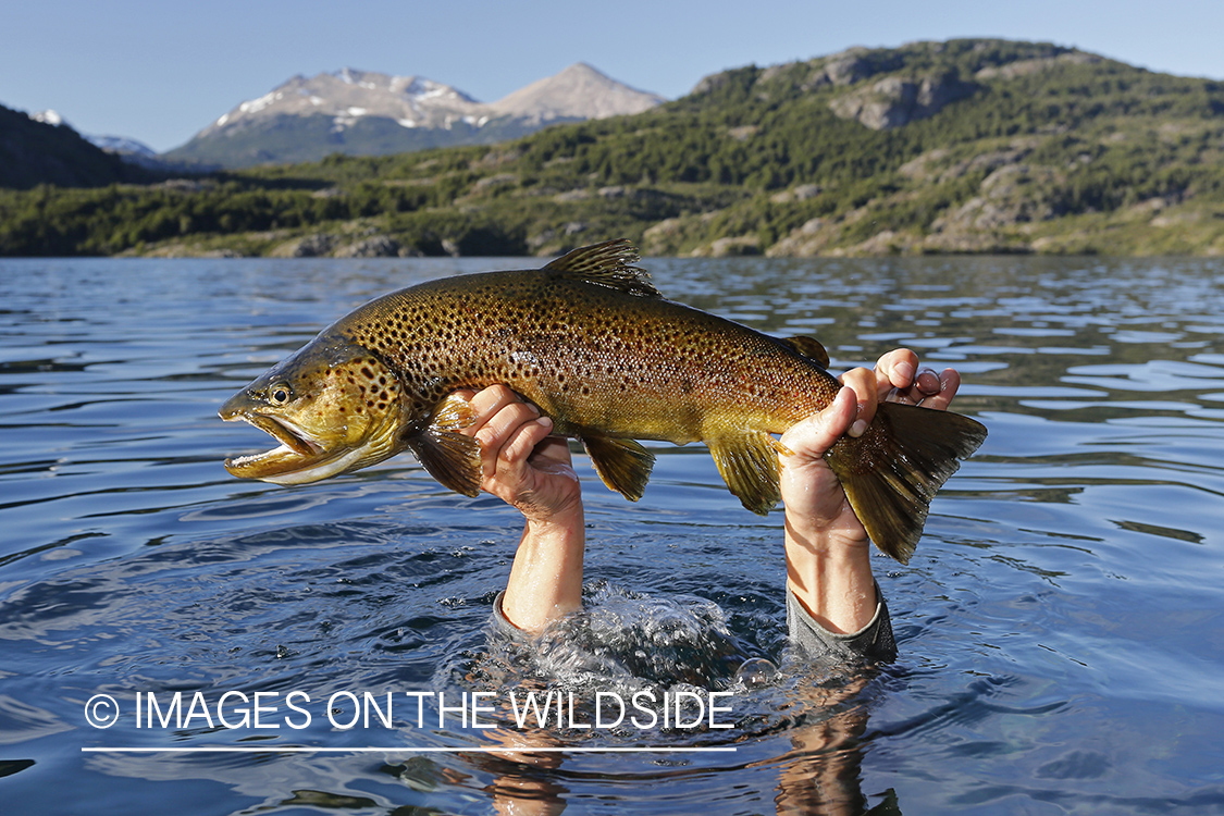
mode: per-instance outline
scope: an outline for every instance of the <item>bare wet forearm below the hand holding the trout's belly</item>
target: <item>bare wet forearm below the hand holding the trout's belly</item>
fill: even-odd
[[[581,503],[561,516],[528,520],[502,597],[512,624],[537,632],[581,607],[585,531]]]

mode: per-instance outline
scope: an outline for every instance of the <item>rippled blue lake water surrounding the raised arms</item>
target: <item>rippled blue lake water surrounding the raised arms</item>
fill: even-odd
[[[486,629],[520,531],[496,499],[409,455],[294,488],[224,471],[268,445],[220,402],[324,324],[521,265],[0,261],[0,809],[1224,812],[1224,263],[647,262],[837,368],[955,366],[990,429],[912,563],[875,560],[900,658],[842,677],[788,659],[781,514],[699,445],[661,447],[636,505],[579,458],[590,615],[537,653]],[[780,673],[737,681],[752,657]],[[530,690],[574,717],[518,728]],[[583,728],[597,691],[730,712]]]

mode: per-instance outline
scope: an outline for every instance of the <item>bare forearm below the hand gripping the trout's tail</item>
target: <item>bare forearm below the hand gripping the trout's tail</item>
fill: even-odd
[[[787,588],[831,632],[857,632],[875,617],[879,598],[870,542],[862,536],[786,517]]]

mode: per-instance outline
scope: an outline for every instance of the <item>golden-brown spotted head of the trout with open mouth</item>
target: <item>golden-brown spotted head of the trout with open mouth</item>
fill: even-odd
[[[321,336],[226,400],[220,417],[245,421],[280,444],[225,460],[239,478],[305,484],[403,450],[400,382],[370,350]]]

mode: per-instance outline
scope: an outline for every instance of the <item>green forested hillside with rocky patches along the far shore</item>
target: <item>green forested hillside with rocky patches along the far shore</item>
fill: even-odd
[[[5,254],[1224,253],[1224,83],[1006,40],[704,80],[493,147],[0,192]]]

